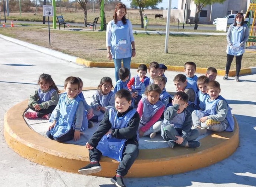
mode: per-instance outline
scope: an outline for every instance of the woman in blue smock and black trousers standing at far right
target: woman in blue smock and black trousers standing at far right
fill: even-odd
[[[249,29],[244,24],[243,13],[237,13],[234,23],[230,25],[227,31],[227,63],[226,63],[226,74],[223,77],[224,80],[228,79],[231,63],[234,56],[236,56],[236,77],[235,81],[239,80],[239,73],[241,70],[241,62],[245,49],[245,43],[249,38]]]

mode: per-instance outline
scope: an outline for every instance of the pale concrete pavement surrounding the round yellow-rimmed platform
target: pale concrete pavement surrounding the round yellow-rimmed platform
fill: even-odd
[[[109,178],[82,176],[41,166],[17,155],[5,143],[4,113],[14,104],[29,97],[37,87],[41,73],[52,75],[60,89],[66,77],[79,76],[85,86],[95,87],[103,76],[114,80],[113,68],[87,68],[6,41],[0,36],[0,186],[3,187],[114,187]],[[191,59],[193,60],[193,59]],[[132,75],[136,73],[131,70]],[[173,77],[178,72],[167,71],[167,90],[173,91]],[[217,77],[221,95],[232,108],[239,124],[240,146],[237,151],[212,166],[177,174],[152,178],[125,178],[127,187],[244,187],[256,184],[256,75],[241,76],[239,83]],[[152,168],[154,169],[154,168]]]

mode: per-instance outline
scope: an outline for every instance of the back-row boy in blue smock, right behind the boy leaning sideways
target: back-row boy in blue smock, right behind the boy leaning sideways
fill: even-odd
[[[194,91],[197,93],[197,76],[195,75],[196,73],[196,64],[194,62],[186,62],[184,64],[184,71],[186,74],[188,86],[193,88]]]

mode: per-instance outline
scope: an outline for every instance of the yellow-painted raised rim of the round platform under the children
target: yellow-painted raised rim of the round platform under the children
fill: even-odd
[[[87,88],[85,90],[92,90]],[[20,156],[44,166],[78,173],[89,163],[85,147],[63,144],[43,137],[32,130],[23,119],[27,100],[10,108],[4,116],[4,137],[7,144]],[[201,147],[143,149],[132,165],[127,177],[154,177],[178,174],[206,167],[229,157],[239,145],[237,121],[233,132],[213,133],[200,140]],[[102,170],[94,176],[112,177],[118,162],[101,158]]]

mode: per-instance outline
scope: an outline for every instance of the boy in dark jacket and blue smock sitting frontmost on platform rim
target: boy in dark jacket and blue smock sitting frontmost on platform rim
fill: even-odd
[[[90,163],[78,170],[82,174],[101,171],[101,155],[119,161],[116,175],[111,181],[124,187],[123,177],[128,173],[139,154],[138,127],[140,116],[131,107],[131,94],[121,89],[115,94],[115,108],[104,114],[98,129],[86,143]]]

